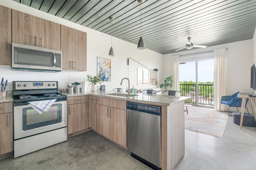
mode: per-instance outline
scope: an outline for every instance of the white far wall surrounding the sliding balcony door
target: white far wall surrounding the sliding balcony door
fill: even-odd
[[[229,44],[222,44],[216,46],[209,46],[204,49],[192,49],[184,52],[177,52],[163,55],[164,73],[162,78],[170,76],[170,57],[175,55],[192,54],[199,52],[208,52],[214,49],[227,48],[227,76],[228,88],[227,95],[234,94],[237,91],[251,91],[250,89],[250,67],[253,65],[255,58],[255,49],[253,48],[253,40],[245,40],[232,42]],[[256,43],[255,43],[256,44]],[[253,57],[254,56],[254,57]]]

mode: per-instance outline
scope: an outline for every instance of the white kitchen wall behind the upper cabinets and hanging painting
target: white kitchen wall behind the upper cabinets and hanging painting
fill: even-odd
[[[79,24],[69,22],[68,20],[58,18],[56,16],[47,14],[46,12],[21,5],[20,3],[16,3],[11,0],[0,1],[0,5],[87,32],[87,71],[63,70],[60,73],[44,73],[33,71],[13,71],[10,67],[0,66],[0,78],[4,77],[5,79],[9,79],[7,90],[12,90],[11,82],[14,80],[58,80],[60,88],[66,86],[68,82],[81,82],[82,80],[86,79],[87,74],[97,74],[97,57],[111,58],[112,61],[112,82],[103,83],[106,85],[106,90],[112,90],[115,87],[122,87],[123,90],[125,90],[127,83],[123,82],[122,86],[119,84],[121,79],[127,77],[128,75],[131,86],[134,84],[135,88],[146,88],[136,86],[137,67],[142,68],[142,66],[133,61],[130,61],[130,65],[127,66],[128,57],[141,62],[150,69],[158,68],[158,76],[160,76],[162,73],[162,54],[148,49],[138,50],[136,44],[131,44],[113,37],[113,49],[115,52],[115,57],[108,57],[106,55],[108,55],[111,46],[111,36],[106,35],[105,33],[94,31],[93,29],[83,27]],[[147,45],[147,40],[144,41]]]

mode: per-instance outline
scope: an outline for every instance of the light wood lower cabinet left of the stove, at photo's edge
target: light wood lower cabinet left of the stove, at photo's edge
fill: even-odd
[[[0,155],[13,151],[13,103],[0,104]]]

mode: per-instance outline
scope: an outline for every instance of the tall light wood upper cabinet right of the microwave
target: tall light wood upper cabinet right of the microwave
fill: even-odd
[[[63,69],[86,71],[87,34],[61,25]]]

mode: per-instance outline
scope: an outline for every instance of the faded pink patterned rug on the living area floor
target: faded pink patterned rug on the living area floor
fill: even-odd
[[[228,122],[228,113],[205,107],[188,107],[185,129],[222,138]]]

